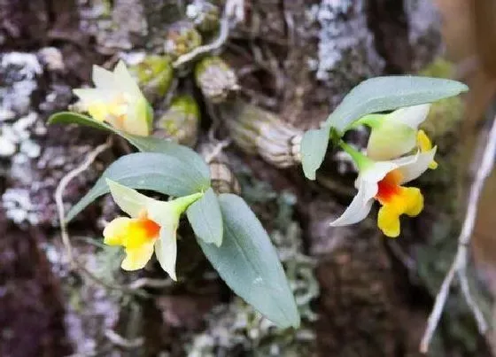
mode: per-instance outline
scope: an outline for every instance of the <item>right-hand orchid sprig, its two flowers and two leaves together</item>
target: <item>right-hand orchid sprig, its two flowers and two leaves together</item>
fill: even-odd
[[[315,179],[316,170],[328,150],[329,140],[348,153],[359,169],[358,189],[352,203],[332,226],[362,221],[374,200],[381,205],[377,225],[384,235],[398,237],[399,216],[422,212],[419,189],[403,187],[428,168],[436,168],[436,147],[419,125],[429,112],[429,103],[467,91],[458,81],[415,76],[377,77],[361,82],[322,123],[322,128],[306,131],[301,141],[305,175]],[[384,114],[382,112],[392,111]],[[345,144],[343,136],[351,128],[371,128],[367,155]],[[403,156],[409,154],[408,156]]]

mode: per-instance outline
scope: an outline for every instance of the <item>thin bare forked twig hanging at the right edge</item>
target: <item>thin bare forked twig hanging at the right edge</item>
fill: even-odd
[[[429,350],[430,339],[432,338],[434,331],[438,327],[438,322],[443,312],[446,304],[446,299],[449,294],[449,289],[453,283],[455,274],[458,276],[458,280],[461,284],[461,292],[467,304],[469,305],[472,314],[476,318],[477,327],[480,333],[484,334],[487,329],[487,322],[485,322],[484,315],[482,314],[480,308],[477,306],[477,302],[473,299],[469,291],[469,280],[467,278],[467,257],[469,254],[469,241],[472,237],[474,231],[474,226],[477,218],[477,206],[479,198],[481,196],[482,190],[484,189],[484,182],[489,175],[491,175],[492,167],[494,165],[494,156],[496,154],[496,118],[492,121],[492,128],[487,137],[486,144],[484,146],[484,153],[480,161],[480,167],[477,170],[476,177],[470,186],[469,193],[469,206],[467,208],[467,213],[465,214],[465,220],[463,221],[463,226],[461,227],[461,233],[458,237],[458,249],[454,257],[453,263],[445,276],[445,280],[441,284],[438,295],[436,296],[436,301],[434,307],[429,316],[427,322],[427,329],[423,333],[422,341],[420,344],[421,353],[427,353]]]

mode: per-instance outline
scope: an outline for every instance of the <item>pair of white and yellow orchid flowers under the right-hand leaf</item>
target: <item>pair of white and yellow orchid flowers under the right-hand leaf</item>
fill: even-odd
[[[381,205],[377,226],[385,236],[398,237],[400,216],[415,217],[422,212],[421,190],[404,184],[427,169],[438,167],[434,161],[436,147],[432,147],[429,136],[419,130],[429,109],[429,104],[413,105],[385,115],[371,114],[355,122],[354,126],[363,124],[371,128],[367,155],[340,142],[359,169],[355,181],[358,192],[345,213],[331,222],[331,226],[363,220],[377,201]]]

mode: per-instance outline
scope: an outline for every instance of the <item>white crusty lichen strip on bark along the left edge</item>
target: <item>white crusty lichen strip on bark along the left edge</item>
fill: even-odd
[[[0,158],[10,161],[11,187],[1,197],[5,215],[16,224],[36,225],[46,203],[34,203],[36,190],[31,160],[42,154],[35,138],[46,128],[35,112],[31,97],[38,89],[43,66],[33,53],[9,52],[0,56]]]

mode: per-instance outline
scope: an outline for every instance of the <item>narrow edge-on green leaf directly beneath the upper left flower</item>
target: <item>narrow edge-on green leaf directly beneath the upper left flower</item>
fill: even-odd
[[[139,151],[144,152],[162,152],[175,155],[178,158],[190,160],[193,165],[206,167],[206,164],[195,151],[190,148],[175,144],[169,140],[160,139],[152,136],[134,136],[125,133],[105,122],[94,120],[88,115],[72,112],[56,113],[50,116],[49,124],[81,124],[91,128],[98,128],[117,134],[128,140],[128,142],[136,147]]]

